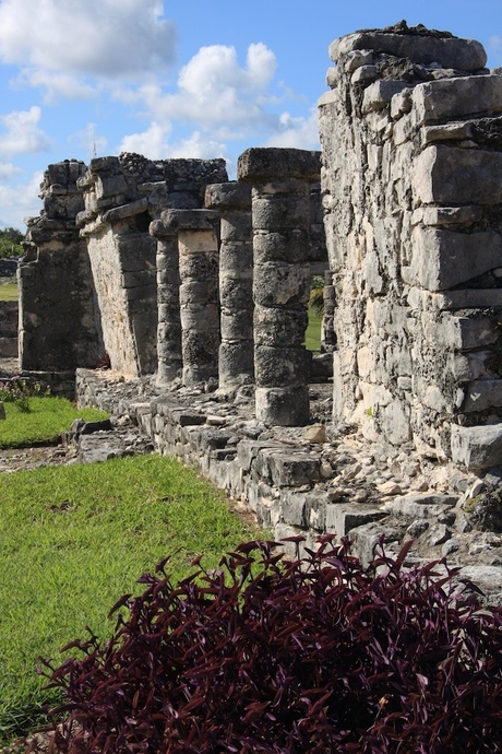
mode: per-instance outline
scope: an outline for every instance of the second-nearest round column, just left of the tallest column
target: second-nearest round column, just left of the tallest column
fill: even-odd
[[[219,388],[250,382],[253,361],[253,238],[251,186],[212,184],[205,205],[220,213],[219,301],[222,343]]]

